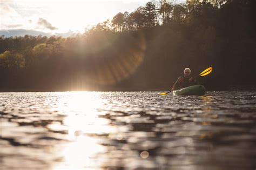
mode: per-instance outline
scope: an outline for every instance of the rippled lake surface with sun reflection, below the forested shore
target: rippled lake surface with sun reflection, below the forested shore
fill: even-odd
[[[256,92],[0,93],[0,169],[255,169]]]

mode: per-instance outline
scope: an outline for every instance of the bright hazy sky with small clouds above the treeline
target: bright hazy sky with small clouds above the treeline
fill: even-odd
[[[150,0],[0,1],[0,35],[15,30],[17,35],[21,30],[53,35],[83,33],[85,28],[112,19],[118,12],[132,12]]]

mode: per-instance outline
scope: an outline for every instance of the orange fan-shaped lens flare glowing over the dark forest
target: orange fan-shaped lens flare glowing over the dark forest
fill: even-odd
[[[101,33],[85,39],[77,42],[75,51],[79,62],[71,74],[71,90],[88,90],[84,86],[95,90],[97,86],[117,84],[131,76],[143,62],[146,49],[143,34],[118,36]]]

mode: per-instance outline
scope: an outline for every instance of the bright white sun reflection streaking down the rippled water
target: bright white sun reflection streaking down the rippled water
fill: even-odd
[[[99,118],[97,108],[102,107],[103,99],[100,92],[67,92],[59,100],[57,109],[65,111],[62,124],[49,126],[52,131],[66,132],[66,144],[60,147],[62,162],[53,169],[91,169],[97,167],[96,155],[104,153],[105,147],[95,134],[109,134],[113,128],[109,120]]]

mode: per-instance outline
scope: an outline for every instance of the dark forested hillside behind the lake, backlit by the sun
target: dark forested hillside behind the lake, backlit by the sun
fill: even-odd
[[[210,90],[256,85],[256,1],[153,1],[75,37],[0,37],[0,91],[169,90],[190,67]]]

